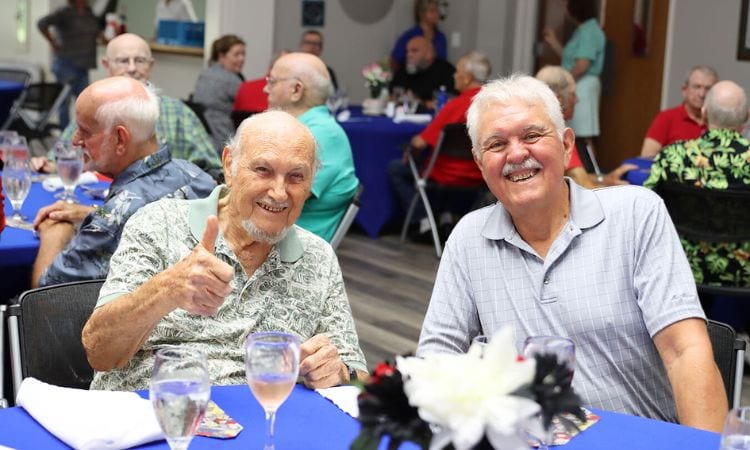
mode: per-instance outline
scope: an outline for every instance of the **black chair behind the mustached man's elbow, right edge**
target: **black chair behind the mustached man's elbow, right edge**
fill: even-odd
[[[742,376],[747,343],[737,339],[734,329],[729,325],[710,319],[708,337],[714,349],[714,360],[724,381],[729,407],[736,408],[740,406],[742,399]]]

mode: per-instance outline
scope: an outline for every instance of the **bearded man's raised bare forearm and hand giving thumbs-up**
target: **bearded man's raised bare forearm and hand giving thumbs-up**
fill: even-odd
[[[234,269],[213,254],[216,216],[209,216],[203,239],[174,266],[130,294],[94,310],[82,341],[91,367],[123,367],[141,348],[159,321],[177,308],[214,315],[232,292]]]

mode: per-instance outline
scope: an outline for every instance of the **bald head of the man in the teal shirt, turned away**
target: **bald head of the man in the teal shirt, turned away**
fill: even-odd
[[[309,53],[281,56],[271,67],[266,86],[268,104],[299,115],[322,105],[331,93],[331,77],[323,60]]]

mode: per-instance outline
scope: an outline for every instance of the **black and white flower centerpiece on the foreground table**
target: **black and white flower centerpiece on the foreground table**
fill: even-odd
[[[567,413],[585,422],[557,357],[525,359],[513,342],[512,329],[505,328],[466,354],[397,357],[395,366],[378,365],[358,398],[362,428],[351,448],[378,448],[384,436],[389,449],[404,441],[423,450],[544,448],[541,437],[553,417]]]

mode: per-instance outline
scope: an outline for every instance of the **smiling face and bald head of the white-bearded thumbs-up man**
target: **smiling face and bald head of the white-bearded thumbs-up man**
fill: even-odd
[[[266,113],[275,123],[241,129],[240,151],[233,160],[224,150],[226,184],[231,188],[226,212],[232,226],[254,241],[282,238],[302,212],[314,176],[315,142],[292,116]],[[279,116],[282,115],[283,116]]]

